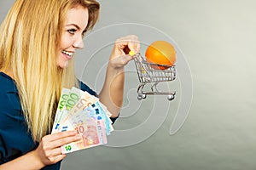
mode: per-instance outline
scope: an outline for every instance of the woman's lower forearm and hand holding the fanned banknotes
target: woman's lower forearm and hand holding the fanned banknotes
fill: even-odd
[[[81,139],[77,131],[67,131],[44,136],[36,150],[28,152],[13,161],[0,165],[0,170],[41,169],[61,161],[66,155],[61,154],[61,146]]]

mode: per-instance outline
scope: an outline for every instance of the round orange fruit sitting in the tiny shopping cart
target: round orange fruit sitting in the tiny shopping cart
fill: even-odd
[[[151,43],[145,53],[148,63],[157,65],[150,65],[154,69],[165,70],[174,65],[176,61],[176,51],[171,43],[166,41],[156,41]],[[166,65],[166,66],[162,66]]]

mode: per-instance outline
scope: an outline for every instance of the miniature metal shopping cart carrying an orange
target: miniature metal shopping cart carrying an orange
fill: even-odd
[[[133,56],[137,75],[140,81],[140,85],[137,88],[137,99],[146,99],[147,95],[164,94],[167,95],[167,99],[172,100],[175,97],[176,92],[160,92],[156,86],[159,82],[173,81],[176,78],[175,65],[157,65],[154,63],[148,63],[141,54],[135,54]],[[165,70],[164,70],[165,69]],[[143,90],[146,84],[151,85],[151,90]]]

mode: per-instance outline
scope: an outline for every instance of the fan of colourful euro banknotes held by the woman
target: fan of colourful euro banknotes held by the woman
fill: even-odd
[[[51,133],[77,130],[82,139],[61,146],[63,154],[107,144],[113,131],[111,113],[95,96],[79,88],[63,88]]]

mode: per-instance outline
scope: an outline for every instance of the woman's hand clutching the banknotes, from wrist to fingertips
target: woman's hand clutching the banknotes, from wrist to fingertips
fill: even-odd
[[[61,153],[61,146],[82,139],[77,131],[67,131],[44,136],[35,151],[44,166],[61,161],[66,155]]]

